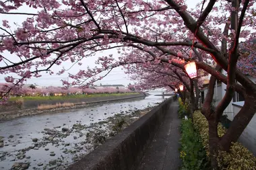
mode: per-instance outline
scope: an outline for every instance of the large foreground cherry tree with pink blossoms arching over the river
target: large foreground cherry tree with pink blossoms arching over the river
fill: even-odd
[[[195,9],[188,9],[185,1],[176,0],[17,0],[1,1],[0,5],[1,15],[28,16],[21,26],[11,28],[8,21],[3,20],[0,28],[0,73],[19,77],[5,77],[12,86],[3,97],[18,91],[26,79],[40,77],[41,72],[53,75],[54,65],[67,61],[83,65],[83,58],[107,49],[117,49],[119,58],[111,54],[101,56],[96,62],[100,67],[82,67],[77,74],[69,75],[74,81],[63,80],[63,84],[88,87],[104,77],[97,76],[99,73],[107,75],[120,66],[128,70],[132,65],[150,67],[152,62],[168,63],[172,67],[170,73],[175,67],[177,73],[184,73],[183,65],[195,60],[197,69],[212,75],[202,113],[209,122],[214,168],[218,167],[218,150],[228,151],[256,112],[256,85],[247,77],[248,74],[255,77],[256,73],[255,32],[252,31],[255,30],[254,1],[201,1]],[[34,13],[20,13],[20,7],[24,6],[34,9]],[[66,70],[63,68],[56,74]],[[146,77],[141,77],[144,79]],[[218,106],[210,110],[216,79],[226,83],[227,90]],[[198,82],[188,77],[187,82],[193,96],[193,86]],[[154,84],[157,83],[152,83],[152,87]],[[245,97],[245,105],[226,134],[219,138],[217,125],[234,91]]]

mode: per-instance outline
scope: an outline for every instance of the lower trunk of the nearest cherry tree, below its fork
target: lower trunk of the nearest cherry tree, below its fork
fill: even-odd
[[[218,170],[218,122],[213,118],[209,122],[209,147],[212,170]]]

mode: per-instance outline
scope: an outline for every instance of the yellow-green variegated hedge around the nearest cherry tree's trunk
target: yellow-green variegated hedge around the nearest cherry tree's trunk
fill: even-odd
[[[201,114],[201,112],[196,111],[193,114],[194,127],[198,130],[203,145],[206,148],[207,156],[209,156],[209,134],[208,134],[208,122]],[[218,134],[219,136],[223,136],[226,132],[226,129],[218,124]],[[253,154],[245,148],[241,143],[234,142],[230,147],[230,152],[227,153],[225,151],[220,151],[218,155],[218,167],[223,170],[235,170],[235,169],[248,169],[255,170],[256,169],[256,158]]]

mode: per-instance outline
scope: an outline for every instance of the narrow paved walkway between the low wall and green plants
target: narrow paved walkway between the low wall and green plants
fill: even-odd
[[[181,120],[178,118],[178,107],[177,101],[170,104],[168,114],[137,170],[178,170],[181,166],[178,150]]]

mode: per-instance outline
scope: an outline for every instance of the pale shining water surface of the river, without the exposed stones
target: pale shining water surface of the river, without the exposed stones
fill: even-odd
[[[59,134],[59,132],[62,128],[71,129],[73,124],[77,123],[89,126],[115,114],[121,112],[129,114],[133,110],[141,110],[147,108],[148,105],[163,101],[162,96],[155,96],[155,94],[160,94],[159,92],[151,94],[145,99],[104,103],[83,109],[65,110],[55,114],[40,114],[1,122],[0,136],[4,137],[5,146],[0,148],[0,169],[11,169],[15,162],[29,162],[30,167],[28,169],[43,169],[41,164],[49,163],[49,161],[54,161],[59,157],[63,157],[65,160],[65,157],[68,157],[69,154],[63,154],[63,149],[77,147],[78,143],[85,141],[86,131],[71,132],[67,136],[61,136],[62,134]],[[54,129],[55,132],[51,132],[49,129]],[[56,137],[56,141],[49,139],[49,136],[51,137],[50,132],[53,133],[52,136]],[[42,142],[42,147],[36,146],[32,142],[33,138]],[[44,142],[46,140],[52,142]],[[23,151],[21,151],[22,149]],[[86,152],[88,151],[84,148],[84,153]],[[52,168],[55,169],[55,167]]]

